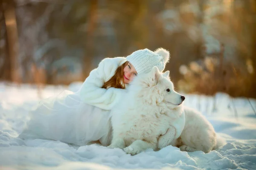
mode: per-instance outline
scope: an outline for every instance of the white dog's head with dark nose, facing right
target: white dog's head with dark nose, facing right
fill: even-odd
[[[176,108],[182,104],[185,97],[174,90],[169,73],[169,71],[160,73],[158,68],[154,67],[148,74],[136,77],[130,88],[137,89],[135,90],[137,97],[150,104],[164,103],[168,108]]]

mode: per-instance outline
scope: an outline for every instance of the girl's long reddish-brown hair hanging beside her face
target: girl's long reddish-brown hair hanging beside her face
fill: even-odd
[[[104,83],[102,88],[125,88],[125,83],[124,83],[124,68],[126,65],[128,65],[128,61],[120,65],[117,69],[113,77],[109,79],[107,82]]]

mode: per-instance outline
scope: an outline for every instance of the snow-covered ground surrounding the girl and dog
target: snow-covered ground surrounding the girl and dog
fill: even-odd
[[[47,86],[42,98],[59,94],[65,88]],[[219,93],[214,97],[185,94],[185,105],[200,110],[226,141],[210,153],[187,153],[168,146],[160,151],[146,150],[135,156],[121,149],[108,149],[96,144],[77,147],[59,141],[21,140],[28,111],[38,101],[32,85],[0,83],[0,169],[26,170],[109,170],[109,169],[256,169],[256,99],[235,98]],[[252,108],[253,107],[253,108]]]

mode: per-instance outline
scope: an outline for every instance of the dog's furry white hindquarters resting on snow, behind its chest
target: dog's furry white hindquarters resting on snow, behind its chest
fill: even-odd
[[[184,108],[186,123],[180,138],[171,142],[172,146],[180,147],[182,151],[202,150],[208,153],[222,145],[221,138],[216,133],[211,123],[198,111]]]

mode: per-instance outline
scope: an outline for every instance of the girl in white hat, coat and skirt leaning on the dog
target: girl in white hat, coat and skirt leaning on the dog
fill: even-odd
[[[122,91],[134,77],[148,73],[154,66],[163,71],[168,60],[169,51],[163,48],[103,59],[79,91],[64,91],[41,101],[30,113],[30,121],[19,137],[59,140],[79,146],[99,140],[103,146],[109,145],[110,111],[122,99]]]

